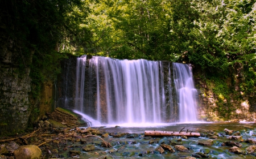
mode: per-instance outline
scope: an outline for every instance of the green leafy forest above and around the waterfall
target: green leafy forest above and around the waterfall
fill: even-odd
[[[19,48],[13,63],[30,68],[34,98],[61,59],[83,54],[191,63],[216,84],[239,67],[240,90],[254,94],[255,18],[254,0],[3,0],[0,37]]]

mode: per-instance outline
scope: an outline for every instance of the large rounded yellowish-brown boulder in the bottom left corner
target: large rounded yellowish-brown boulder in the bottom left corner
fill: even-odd
[[[19,159],[40,158],[41,154],[41,149],[36,145],[20,146],[18,149],[14,151],[15,158]]]

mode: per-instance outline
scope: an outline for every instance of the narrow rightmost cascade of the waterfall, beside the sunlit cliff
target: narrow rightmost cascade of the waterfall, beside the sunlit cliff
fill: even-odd
[[[179,122],[197,121],[197,90],[193,82],[192,67],[181,63],[173,63],[174,81],[179,108]]]

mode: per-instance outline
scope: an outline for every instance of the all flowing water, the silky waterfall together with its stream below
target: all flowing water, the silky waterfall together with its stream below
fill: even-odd
[[[101,146],[100,139],[88,139],[96,151],[83,152],[80,158],[183,158],[196,156],[197,152],[207,158],[255,158],[253,154],[229,152],[224,129],[239,131],[244,141],[242,151],[249,147],[245,141],[254,138],[255,123],[207,123],[197,120],[197,91],[193,84],[189,65],[143,59],[128,61],[106,57],[86,56],[77,58],[75,77],[67,72],[63,97],[59,105],[75,109],[88,125],[109,133],[105,141],[112,148]],[[75,80],[70,80],[75,79]],[[184,128],[185,127],[185,128]],[[85,127],[87,128],[87,127]],[[145,130],[200,132],[201,137],[147,137]],[[209,132],[217,132],[211,146],[199,145]],[[121,137],[114,134],[126,133]],[[160,154],[160,144],[177,143],[188,148],[186,152],[165,151]],[[254,144],[255,145],[255,144]],[[171,145],[174,148],[174,145]]]

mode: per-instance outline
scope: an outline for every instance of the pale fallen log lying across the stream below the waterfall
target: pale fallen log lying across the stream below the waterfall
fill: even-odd
[[[200,137],[199,132],[174,132],[174,131],[148,131],[145,130],[145,136],[193,136]]]

